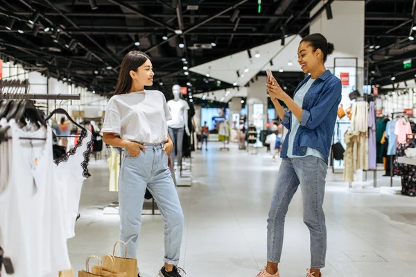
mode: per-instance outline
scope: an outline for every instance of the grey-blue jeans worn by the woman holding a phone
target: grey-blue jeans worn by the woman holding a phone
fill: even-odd
[[[304,223],[311,234],[311,267],[325,266],[327,228],[322,205],[328,165],[314,156],[284,158],[272,196],[267,226],[267,260],[279,263],[283,247],[284,220],[297,187],[303,199]]]

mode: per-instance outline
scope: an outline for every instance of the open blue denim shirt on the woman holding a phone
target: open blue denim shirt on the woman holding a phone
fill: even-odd
[[[295,90],[306,83],[311,76],[302,81]],[[302,120],[293,142],[293,155],[305,156],[306,149],[311,147],[322,153],[328,162],[331,149],[333,128],[335,127],[338,106],[342,97],[342,85],[339,78],[329,70],[317,78],[306,93],[302,105]],[[292,112],[288,111],[281,119],[281,124],[291,132]],[[287,136],[288,137],[288,136]],[[281,149],[281,158],[288,158],[288,140]]]

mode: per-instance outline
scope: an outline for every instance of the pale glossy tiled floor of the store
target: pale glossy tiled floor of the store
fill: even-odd
[[[266,219],[279,160],[236,146],[229,152],[219,151],[220,144],[210,147],[194,154],[193,186],[177,188],[185,215],[180,267],[191,277],[254,277],[266,263]],[[84,269],[89,255],[110,253],[119,235],[119,217],[103,214],[117,199],[108,192],[107,165],[92,162],[90,171],[76,237],[69,240],[75,271]],[[342,174],[329,174],[324,277],[416,276],[416,199],[393,194],[382,174],[381,189],[372,182],[349,189],[338,182]],[[164,224],[159,215],[144,215],[143,221],[139,267],[142,277],[155,277],[162,265]],[[305,276],[309,260],[309,231],[297,193],[286,217],[281,277]]]

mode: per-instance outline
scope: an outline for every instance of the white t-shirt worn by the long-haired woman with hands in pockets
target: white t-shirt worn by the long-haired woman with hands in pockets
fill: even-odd
[[[114,95],[105,109],[103,133],[115,133],[123,140],[161,143],[168,140],[171,120],[165,96],[157,90]]]

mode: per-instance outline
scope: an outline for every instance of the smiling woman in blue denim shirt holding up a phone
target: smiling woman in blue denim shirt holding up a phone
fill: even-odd
[[[320,277],[327,253],[324,202],[329,149],[336,113],[341,101],[341,81],[325,68],[333,44],[321,34],[304,37],[300,42],[298,62],[310,74],[295,90],[291,99],[275,78],[269,78],[268,93],[279,117],[288,129],[281,149],[281,166],[272,195],[267,227],[267,266],[257,277],[279,276],[278,264],[283,246],[284,221],[297,187],[301,187],[303,219],[311,240],[311,269],[306,277]],[[279,103],[288,107],[285,112]]]

